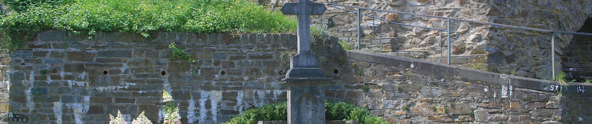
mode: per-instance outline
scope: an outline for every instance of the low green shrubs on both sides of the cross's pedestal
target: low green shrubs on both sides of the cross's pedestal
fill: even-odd
[[[235,116],[224,124],[254,124],[258,121],[287,120],[287,104],[285,102],[263,105],[249,109],[242,115]],[[370,115],[368,109],[345,102],[325,102],[326,120],[357,120],[360,124],[386,124],[378,116]]]

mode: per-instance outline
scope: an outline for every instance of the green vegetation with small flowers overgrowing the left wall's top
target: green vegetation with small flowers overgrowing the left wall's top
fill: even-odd
[[[296,22],[243,0],[0,0],[14,11],[2,16],[4,48],[17,49],[47,29],[94,35],[134,32],[294,32]]]

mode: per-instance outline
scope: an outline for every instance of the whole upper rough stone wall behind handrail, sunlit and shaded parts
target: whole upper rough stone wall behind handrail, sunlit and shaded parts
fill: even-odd
[[[274,7],[281,6],[285,2],[287,1],[275,0],[269,4]],[[580,29],[585,19],[592,15],[592,1],[588,0],[338,0],[318,2],[571,32]],[[337,8],[328,7],[328,9],[326,14],[318,16],[313,22],[328,27],[334,36],[347,42],[352,48],[357,48],[357,15]],[[355,9],[350,10],[356,11]],[[362,13],[401,24],[446,29],[445,19],[367,10]],[[363,18],[361,26],[361,30],[364,32],[361,45],[363,51],[397,52],[399,55],[427,61],[442,63],[447,61],[443,59],[448,54],[445,32],[440,35],[439,31],[432,29],[395,25],[378,19],[374,19],[373,22],[373,19],[368,16]],[[459,21],[452,21],[451,30],[460,34],[459,38],[452,39],[451,63],[453,65],[528,78],[551,79],[549,76],[551,75],[551,33]],[[572,35],[558,34],[557,36],[555,54],[561,56],[570,43]],[[374,42],[378,41],[374,38],[391,40],[390,42]],[[440,42],[440,38],[442,42]],[[401,52],[409,54],[400,54]],[[475,58],[478,56],[483,58]],[[485,58],[485,56],[490,57]],[[494,60],[488,61],[487,59]],[[558,57],[556,62],[561,63],[562,61]],[[561,69],[561,67],[556,69]]]

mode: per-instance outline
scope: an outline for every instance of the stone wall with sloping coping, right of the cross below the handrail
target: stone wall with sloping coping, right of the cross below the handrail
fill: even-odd
[[[352,51],[359,73],[342,74],[346,102],[358,103],[390,123],[590,123],[588,99],[570,83],[458,68],[434,62]],[[369,88],[369,89],[365,89]],[[579,89],[578,89],[579,88]],[[577,94],[575,94],[577,93]],[[585,94],[583,94],[585,93]]]

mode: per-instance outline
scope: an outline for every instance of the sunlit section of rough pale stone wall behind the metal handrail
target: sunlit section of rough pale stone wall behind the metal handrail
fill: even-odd
[[[286,0],[270,1],[272,8],[283,5]],[[446,16],[452,18],[470,19],[473,21],[488,21],[491,6],[487,1],[416,1],[416,0],[394,0],[394,1],[318,1],[323,3],[343,4],[362,6],[366,8],[387,9],[393,11],[411,12],[415,14],[426,14]],[[337,8],[327,6],[324,15],[317,16],[313,23],[329,28],[333,36],[348,42],[352,48],[357,48],[357,15]],[[355,11],[355,9],[348,8]],[[428,26],[431,28],[446,29],[446,20],[436,18],[425,18],[412,15],[399,15],[387,12],[362,11],[363,14],[376,16],[388,21],[401,24],[417,26]],[[400,52],[400,51],[424,51],[425,55],[418,59],[446,56],[446,32],[432,29],[417,28],[391,24],[386,21],[379,21],[365,16],[362,21],[363,41],[362,50],[373,52]],[[372,27],[374,26],[374,30]],[[459,31],[459,38],[452,39],[452,55],[485,55],[485,45],[488,42],[488,26],[468,24],[464,22],[452,22],[452,31]],[[440,42],[440,38],[443,42]],[[389,39],[390,42],[377,39]],[[380,40],[379,40],[380,41]],[[382,44],[382,45],[378,45]],[[440,48],[444,48],[440,51]],[[481,49],[478,49],[481,48]]]

